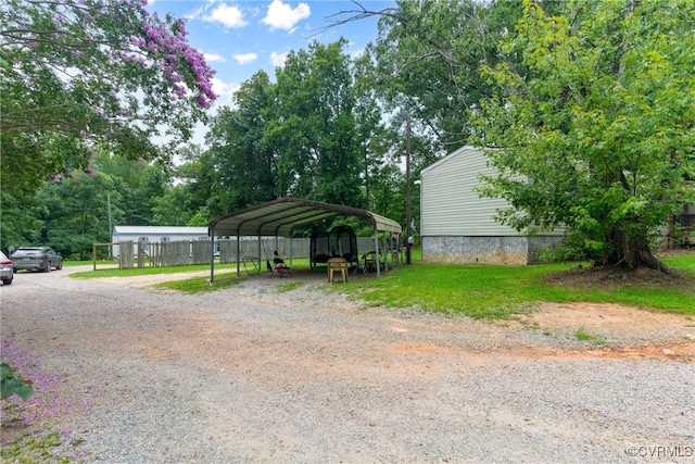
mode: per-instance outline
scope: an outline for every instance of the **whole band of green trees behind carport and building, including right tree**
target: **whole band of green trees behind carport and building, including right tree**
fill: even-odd
[[[695,202],[685,183],[695,177],[694,4],[403,0],[369,11],[369,3],[355,3],[337,21],[380,17],[364,54],[349,55],[344,40],[291,52],[273,78],[256,73],[231,108],[211,116],[204,148],[167,145],[153,155],[148,146],[139,156],[94,136],[71,164],[64,153],[85,137],[39,134],[27,148],[17,142],[26,130],[3,128],[1,247],[48,242],[84,254],[91,242],[109,240],[109,216],[114,225],[206,225],[287,195],[405,223],[405,110],[414,179],[462,145],[504,148],[490,152],[501,175],[481,190],[509,201],[501,221],[521,230],[568,225],[597,261],[656,265],[652,238],[670,214]],[[167,21],[175,33],[184,28]],[[2,53],[11,63],[4,45]],[[4,77],[14,67],[3,70]],[[192,71],[181,75],[198,90],[185,98],[214,98]],[[9,104],[3,97],[3,117]],[[181,111],[168,123],[186,133],[198,109],[187,116]],[[31,150],[58,153],[64,170],[23,168]],[[27,179],[13,185],[13,177]]]

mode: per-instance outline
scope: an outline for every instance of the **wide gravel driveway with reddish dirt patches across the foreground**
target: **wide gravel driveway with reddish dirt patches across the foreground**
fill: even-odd
[[[3,446],[55,430],[52,452],[102,463],[695,460],[684,316],[490,323],[365,309],[325,276],[184,294],[150,286],[175,275],[68,272],[0,288],[3,359],[36,390]]]

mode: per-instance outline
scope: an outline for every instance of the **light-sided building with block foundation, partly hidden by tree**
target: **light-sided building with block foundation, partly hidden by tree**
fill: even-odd
[[[564,230],[526,237],[494,220],[504,199],[481,198],[480,174],[494,174],[482,151],[462,147],[420,173],[422,261],[532,264]]]

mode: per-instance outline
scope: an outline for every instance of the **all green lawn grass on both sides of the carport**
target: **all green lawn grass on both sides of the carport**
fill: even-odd
[[[618,279],[603,284],[574,285],[571,279],[552,277],[577,268],[578,263],[534,266],[426,264],[420,261],[416,251],[412,265],[401,265],[395,272],[382,274],[379,279],[350,279],[345,286],[334,286],[333,289],[352,293],[351,298],[363,301],[366,306],[413,308],[475,318],[506,318],[528,312],[541,301],[620,303],[695,315],[695,253],[661,260],[690,278],[681,278],[675,283],[668,279],[621,283]],[[308,267],[308,261],[294,260],[293,266]],[[77,273],[74,276],[132,276],[207,269],[207,265],[114,268]],[[231,272],[218,273],[219,271]],[[240,281],[236,276],[236,264],[232,263],[215,266],[213,286],[208,283],[208,276],[173,279],[157,286],[194,293],[215,291]]]

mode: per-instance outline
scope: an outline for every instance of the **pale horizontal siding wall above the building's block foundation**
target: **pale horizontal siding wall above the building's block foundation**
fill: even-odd
[[[479,174],[493,174],[484,154],[472,147],[463,147],[422,171],[421,234],[422,236],[518,236],[494,216],[508,206],[502,199],[480,198]]]

